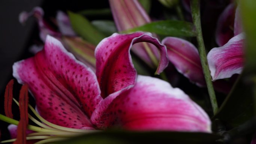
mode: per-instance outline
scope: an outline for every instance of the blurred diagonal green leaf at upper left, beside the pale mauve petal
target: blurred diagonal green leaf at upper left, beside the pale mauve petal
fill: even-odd
[[[97,45],[106,36],[101,34],[84,16],[68,12],[73,30],[79,34],[83,39]]]

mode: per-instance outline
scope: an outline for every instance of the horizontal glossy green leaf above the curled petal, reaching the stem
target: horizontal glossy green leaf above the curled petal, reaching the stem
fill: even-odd
[[[177,37],[196,36],[195,26],[192,23],[173,20],[151,22],[149,24],[145,24],[143,26],[124,31],[124,33],[131,33],[135,31],[147,31],[160,35]]]

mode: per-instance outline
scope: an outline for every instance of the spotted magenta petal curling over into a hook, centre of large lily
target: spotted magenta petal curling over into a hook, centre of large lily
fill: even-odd
[[[156,73],[161,73],[168,64],[166,47],[161,45],[150,33],[113,34],[103,39],[95,49],[96,75],[100,84],[101,96],[107,97],[129,85],[134,85],[137,76],[132,64],[130,49],[132,44],[149,42],[161,54]]]

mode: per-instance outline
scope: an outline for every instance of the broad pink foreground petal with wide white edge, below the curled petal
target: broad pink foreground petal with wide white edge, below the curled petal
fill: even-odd
[[[188,95],[148,76],[138,76],[133,88],[104,99],[91,121],[100,129],[211,132],[209,117]]]

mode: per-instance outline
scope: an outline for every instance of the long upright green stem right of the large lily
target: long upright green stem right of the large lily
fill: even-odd
[[[218,104],[213,89],[213,83],[211,82],[210,70],[208,67],[207,56],[205,52],[204,39],[202,37],[201,19],[200,19],[200,0],[191,0],[191,13],[193,23],[197,32],[198,51],[201,59],[202,69],[204,72],[204,78],[207,85],[208,93],[210,96],[211,107],[213,108],[213,114],[217,113]]]

